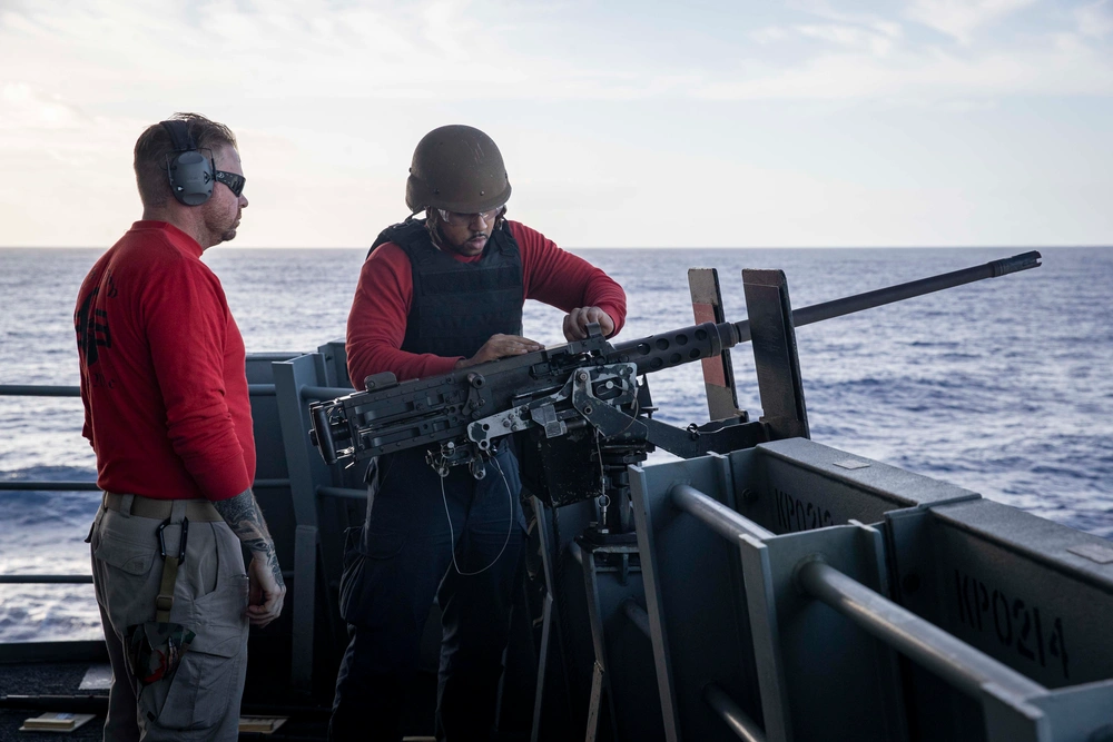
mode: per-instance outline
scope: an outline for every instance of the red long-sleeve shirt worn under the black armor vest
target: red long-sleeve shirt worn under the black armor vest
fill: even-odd
[[[510,231],[522,256],[522,283],[528,299],[536,299],[564,311],[599,307],[614,321],[614,333],[626,321],[626,293],[610,276],[583,258],[565,253],[541,233],[518,221]],[[482,256],[450,255],[461,263]],[[392,372],[400,382],[446,374],[460,356],[414,354],[401,350],[406,318],[413,300],[410,258],[394,243],[381,245],[364,261],[347,323],[347,364],[356,388],[382,372]]]

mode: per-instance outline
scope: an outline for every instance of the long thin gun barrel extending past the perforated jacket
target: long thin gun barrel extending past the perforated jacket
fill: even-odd
[[[963,268],[962,270],[954,270],[952,273],[932,276],[930,278],[920,278],[919,280],[908,281],[907,284],[898,284],[897,286],[879,288],[875,291],[866,291],[865,294],[856,294],[841,299],[835,299],[834,301],[824,301],[823,304],[815,304],[810,307],[801,307],[800,309],[792,310],[792,324],[796,327],[801,327],[804,325],[810,325],[825,319],[831,319],[834,317],[854,314],[855,311],[861,311],[863,309],[873,309],[874,307],[893,304],[895,301],[904,301],[905,299],[910,299],[916,296],[942,291],[945,288],[954,288],[955,286],[962,286],[963,284],[972,284],[976,280],[983,280],[985,278],[995,278],[997,276],[1004,276],[1018,270],[1038,268],[1043,265],[1040,263],[1041,257],[1040,253],[1033,250],[1032,253],[1014,255],[1011,258],[993,260],[991,263],[986,263],[985,265],[974,266],[972,268]],[[750,323],[748,319],[733,323],[733,326],[738,337],[738,343],[746,343],[750,339]]]

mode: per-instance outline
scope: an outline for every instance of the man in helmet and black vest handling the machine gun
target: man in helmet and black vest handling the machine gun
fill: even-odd
[[[540,350],[522,336],[522,305],[568,313],[564,334],[608,336],[626,319],[626,295],[602,270],[505,218],[510,182],[494,141],[465,126],[426,135],[414,152],[411,217],[380,235],[364,263],[347,325],[348,375],[400,379]],[[341,614],[349,643],[341,663],[329,739],[400,740],[400,711],[417,670],[435,596],[443,640],[436,735],[491,736],[524,541],[518,461],[499,446],[475,479],[443,479],[413,448],[368,469],[367,516],[348,545]]]

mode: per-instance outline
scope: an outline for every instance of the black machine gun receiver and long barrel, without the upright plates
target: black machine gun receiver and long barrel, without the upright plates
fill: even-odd
[[[1038,267],[1038,253],[827,301],[792,311],[808,325],[975,280]],[[598,326],[562,346],[398,383],[368,376],[366,390],[311,405],[311,437],[326,463],[361,461],[415,446],[430,449],[442,475],[489,456],[506,435],[532,431],[552,442],[593,428],[609,444],[656,445],[681,457],[726,453],[768,439],[762,423],[742,417],[680,429],[651,418],[638,377],[716,356],[750,339],[749,320],[705,323],[611,345]]]

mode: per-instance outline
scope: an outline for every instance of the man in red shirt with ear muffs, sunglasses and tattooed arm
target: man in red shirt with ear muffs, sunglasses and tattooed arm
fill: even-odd
[[[105,739],[236,740],[248,623],[277,617],[286,592],[252,493],[244,340],[200,261],[236,236],[245,179],[232,131],[195,113],[148,127],[135,169],[142,220],[73,313],[105,491],[89,534],[112,663]]]

